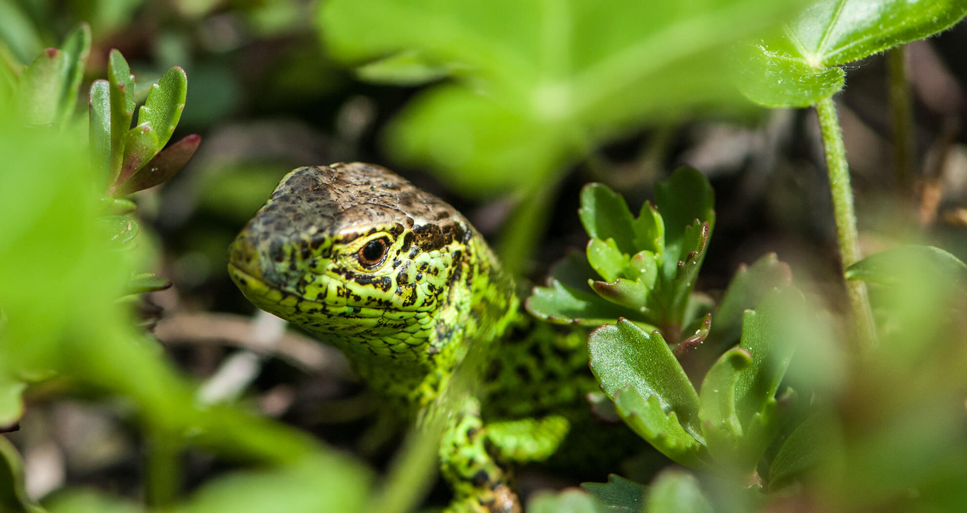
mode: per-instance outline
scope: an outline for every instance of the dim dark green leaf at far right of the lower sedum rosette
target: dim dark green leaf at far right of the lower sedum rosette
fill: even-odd
[[[832,422],[829,412],[818,410],[789,434],[769,466],[770,490],[789,484],[830,455],[832,440],[835,439],[830,435]]]

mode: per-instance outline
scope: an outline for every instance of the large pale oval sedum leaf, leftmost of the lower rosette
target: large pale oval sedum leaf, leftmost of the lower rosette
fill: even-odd
[[[606,324],[588,337],[591,371],[611,399],[621,388],[634,387],[654,396],[661,409],[678,414],[693,436],[700,437],[698,394],[658,331],[645,333],[628,319]]]

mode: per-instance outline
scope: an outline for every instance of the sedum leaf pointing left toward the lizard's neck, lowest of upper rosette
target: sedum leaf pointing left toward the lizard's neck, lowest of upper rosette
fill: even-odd
[[[637,312],[609,303],[588,287],[594,270],[583,255],[571,252],[551,269],[546,287],[534,287],[525,303],[534,317],[557,324],[600,326]]]

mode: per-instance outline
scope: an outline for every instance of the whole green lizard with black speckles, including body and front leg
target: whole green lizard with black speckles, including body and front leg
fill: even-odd
[[[522,314],[483,236],[385,167],[293,170],[229,262],[252,303],[340,349],[411,416],[433,407],[472,349],[484,354],[484,382],[440,444],[448,511],[520,511],[508,464],[548,458],[588,417],[582,401],[598,387],[583,334]]]

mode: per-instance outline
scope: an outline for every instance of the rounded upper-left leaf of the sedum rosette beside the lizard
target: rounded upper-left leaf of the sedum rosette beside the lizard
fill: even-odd
[[[581,224],[592,239],[613,239],[625,255],[641,250],[634,245],[634,218],[625,198],[603,184],[588,184],[581,189],[581,208],[577,211]],[[608,280],[611,281],[611,280]]]

